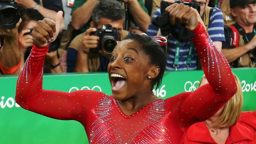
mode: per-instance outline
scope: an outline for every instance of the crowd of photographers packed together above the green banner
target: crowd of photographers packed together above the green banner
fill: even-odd
[[[64,19],[62,19],[60,29],[63,31],[59,39],[51,43],[52,49],[47,54],[44,73],[107,71],[106,66],[109,63],[111,51],[106,52],[104,48],[102,49],[104,47],[102,44],[106,43],[101,43],[101,41],[104,35],[115,35],[115,33],[92,35],[92,32],[96,30],[102,31],[104,24],[118,28],[117,35],[119,36],[116,40],[122,40],[129,33],[165,36],[167,38],[166,70],[201,69],[196,47],[189,38],[186,38],[186,34],[181,33],[178,38],[170,33],[161,33],[164,28],[152,24],[152,20],[160,16],[165,7],[181,1],[119,1],[123,9],[113,12],[109,10],[111,5],[94,9],[99,0],[75,0],[68,28],[63,30]],[[201,17],[205,30],[225,55],[229,64],[233,68],[255,67],[255,1],[196,1],[198,8],[192,4],[190,6],[197,8],[198,17]],[[18,74],[21,71],[33,44],[31,31],[36,21],[43,18],[54,20],[56,12],[64,11],[61,0],[14,0],[14,3],[22,21],[19,21],[14,28],[0,27],[2,36],[0,72],[2,74]],[[92,30],[92,28],[96,29]],[[93,48],[96,50],[90,50]]]

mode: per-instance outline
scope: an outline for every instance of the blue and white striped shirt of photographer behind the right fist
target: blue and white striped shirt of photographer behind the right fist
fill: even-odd
[[[153,14],[152,19],[161,15],[160,9],[157,9]],[[151,19],[151,21],[152,21]],[[153,25],[150,22],[150,25],[147,29],[147,35],[155,36],[158,32],[158,27]],[[214,8],[213,12],[210,16],[209,27],[208,27],[208,34],[213,41],[225,41],[224,36],[224,22],[223,22],[223,14],[220,9]],[[179,54],[179,67],[178,70],[187,70],[186,61],[188,55],[188,47],[190,41],[182,42],[180,47],[180,54]],[[175,70],[174,68],[174,56],[175,56],[175,49],[176,49],[176,39],[173,38],[171,35],[168,36],[167,39],[167,66],[166,70]],[[189,70],[197,69],[197,60],[198,54],[196,50],[193,52],[193,56],[191,59],[191,66]]]

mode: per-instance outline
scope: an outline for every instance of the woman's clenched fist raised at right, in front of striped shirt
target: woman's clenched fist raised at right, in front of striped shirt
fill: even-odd
[[[179,24],[186,26],[189,30],[193,30],[198,25],[197,11],[192,7],[184,5],[183,3],[174,3],[165,9],[169,13],[169,21],[174,25],[177,21]]]

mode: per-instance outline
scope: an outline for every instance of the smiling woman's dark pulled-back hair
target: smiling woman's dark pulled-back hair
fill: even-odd
[[[151,36],[147,35],[138,35],[135,33],[131,33],[127,35],[123,40],[135,40],[137,41],[142,47],[142,51],[148,55],[150,61],[149,63],[155,66],[160,67],[159,74],[156,78],[152,80],[152,89],[154,85],[156,85],[156,89],[162,83],[162,78],[164,77],[164,70],[167,64],[167,55],[165,51],[165,47],[161,46],[155,39]]]

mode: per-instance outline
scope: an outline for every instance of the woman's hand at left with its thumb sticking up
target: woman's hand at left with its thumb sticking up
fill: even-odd
[[[44,47],[56,40],[60,32],[60,20],[62,19],[62,14],[62,11],[57,13],[55,22],[47,18],[37,22],[32,31],[32,37],[37,46]]]

